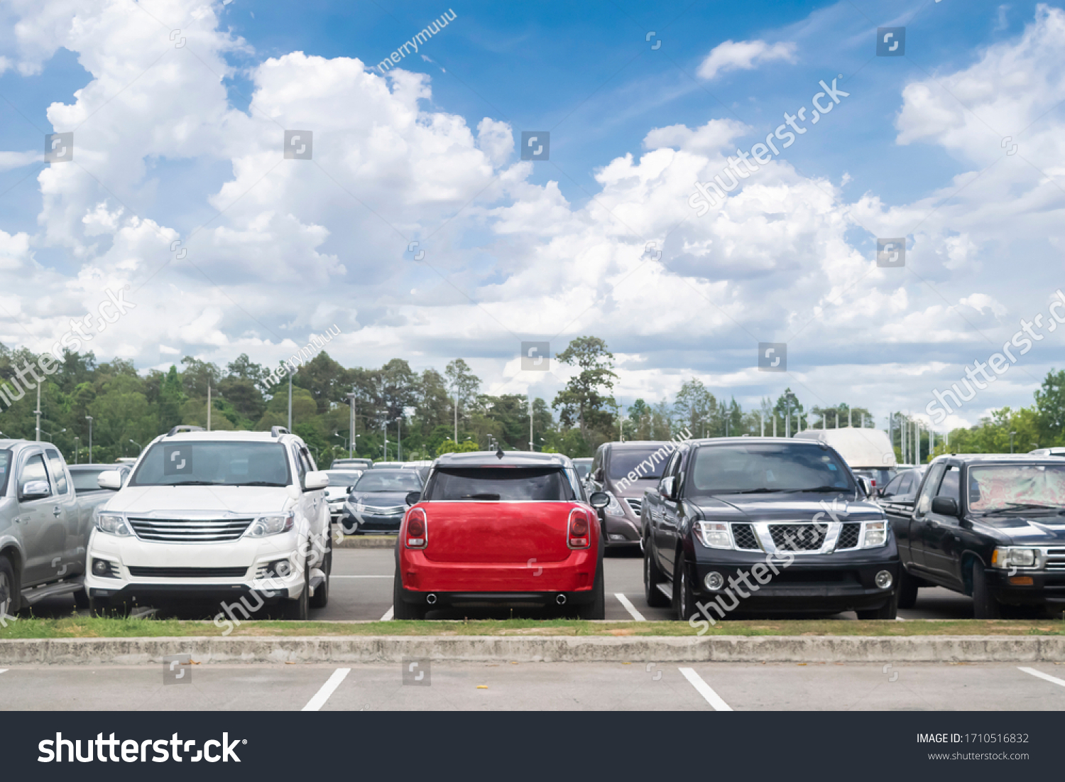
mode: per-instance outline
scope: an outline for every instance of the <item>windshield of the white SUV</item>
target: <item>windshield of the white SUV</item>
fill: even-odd
[[[197,440],[157,442],[129,486],[288,486],[284,445]]]

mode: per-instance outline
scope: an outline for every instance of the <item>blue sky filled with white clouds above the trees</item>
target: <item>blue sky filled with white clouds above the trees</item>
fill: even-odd
[[[596,333],[623,398],[699,376],[747,405],[790,384],[919,410],[1058,287],[1053,3],[93,0],[67,22],[59,2],[0,12],[6,344],[126,280],[155,321],[98,352],[145,370],[160,345],[274,361],[335,319],[346,363],[462,356],[505,390],[564,381],[520,373],[517,340]],[[905,27],[904,58],[874,55],[878,27]],[[783,53],[703,70],[736,46]],[[831,114],[693,216],[697,179],[834,79]],[[75,127],[76,166],[29,161]],[[274,160],[282,127],[314,130],[314,164]],[[551,131],[550,161],[518,159],[523,130]],[[910,237],[905,274],[875,268],[878,233]],[[752,370],[753,343],[792,338],[799,374]],[[1028,404],[1060,345],[955,423]]]

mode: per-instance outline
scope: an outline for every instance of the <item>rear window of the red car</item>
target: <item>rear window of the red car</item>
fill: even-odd
[[[576,494],[561,467],[440,467],[422,500],[570,502]]]

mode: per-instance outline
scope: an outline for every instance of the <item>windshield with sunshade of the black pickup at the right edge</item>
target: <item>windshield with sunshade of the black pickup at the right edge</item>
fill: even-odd
[[[969,468],[969,510],[1065,508],[1065,463],[988,465]]]

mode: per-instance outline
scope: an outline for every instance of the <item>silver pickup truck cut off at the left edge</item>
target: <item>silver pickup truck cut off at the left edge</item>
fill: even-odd
[[[88,607],[85,545],[93,512],[112,496],[78,495],[51,443],[0,440],[0,620],[58,594]]]

